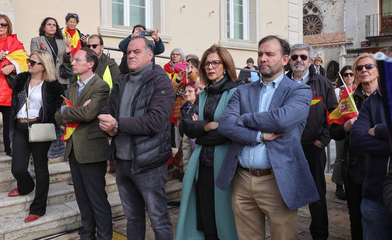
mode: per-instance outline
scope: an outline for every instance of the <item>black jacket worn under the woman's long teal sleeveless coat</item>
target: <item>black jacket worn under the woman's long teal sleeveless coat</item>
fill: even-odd
[[[196,138],[195,143],[198,145],[203,145],[200,153],[200,164],[206,165],[207,167],[214,167],[214,150],[215,145],[221,145],[227,141],[229,138],[218,133],[218,129],[213,129],[211,131],[204,130],[204,124],[207,122],[214,121],[215,109],[218,106],[219,100],[222,97],[224,91],[235,88],[243,84],[242,80],[239,79],[235,82],[230,82],[227,77],[221,79],[214,85],[208,85],[204,88],[204,92],[200,94],[207,94],[207,99],[204,105],[204,120],[203,121],[193,121],[193,114],[199,115],[199,96],[196,98],[191,110],[183,119],[183,131],[189,138]]]

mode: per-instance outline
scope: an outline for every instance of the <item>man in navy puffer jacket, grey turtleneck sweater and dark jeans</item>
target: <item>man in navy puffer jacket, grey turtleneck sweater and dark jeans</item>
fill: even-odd
[[[135,36],[127,48],[131,70],[120,74],[98,116],[112,136],[112,164],[127,222],[128,239],[145,238],[145,205],[156,239],[173,239],[165,185],[171,157],[170,117],[175,95],[167,73],[152,64],[153,48]]]

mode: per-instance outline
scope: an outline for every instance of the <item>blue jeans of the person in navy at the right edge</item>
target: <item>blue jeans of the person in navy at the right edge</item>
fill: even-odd
[[[379,202],[362,198],[362,227],[364,240],[390,240],[392,223],[387,216],[385,206]]]

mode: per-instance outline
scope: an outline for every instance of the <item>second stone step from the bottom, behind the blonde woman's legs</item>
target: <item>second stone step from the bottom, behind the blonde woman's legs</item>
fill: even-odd
[[[106,174],[106,187],[107,193],[117,191],[116,177],[113,174]],[[33,192],[18,197],[9,197],[9,191],[0,193],[0,213],[11,214],[20,211],[28,210],[31,202],[33,202],[35,196],[35,190]],[[68,181],[49,184],[49,192],[47,205],[54,205],[69,201],[74,201],[75,191],[72,185],[68,185]]]

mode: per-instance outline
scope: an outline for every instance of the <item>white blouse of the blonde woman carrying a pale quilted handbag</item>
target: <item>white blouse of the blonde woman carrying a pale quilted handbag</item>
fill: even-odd
[[[42,107],[42,82],[38,84],[35,88],[34,87],[35,86],[33,86],[33,88],[30,88],[29,84],[29,119],[38,118],[40,116],[40,109]],[[22,108],[18,111],[16,118],[27,118],[26,103],[23,104]]]

